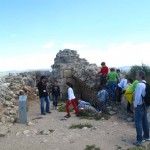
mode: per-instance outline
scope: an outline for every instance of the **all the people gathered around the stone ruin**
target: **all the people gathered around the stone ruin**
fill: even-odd
[[[149,124],[147,119],[147,109],[148,106],[144,103],[143,97],[146,95],[146,75],[145,72],[139,70],[137,71],[136,80],[133,82],[131,78],[126,79],[124,75],[120,74],[120,70],[115,71],[114,68],[109,69],[105,62],[101,63],[100,74],[100,85],[98,90],[99,107],[98,111],[101,114],[103,111],[103,106],[108,103],[109,100],[116,101],[116,103],[121,103],[121,97],[124,94],[128,101],[127,112],[134,113],[134,120],[136,126],[137,137],[134,141],[134,145],[140,145],[145,141],[150,141],[149,138]],[[71,117],[70,115],[70,105],[72,104],[76,116],[79,114],[78,107],[76,105],[76,97],[73,91],[73,85],[70,82],[66,83],[66,90],[68,95],[68,100],[66,103],[66,118]],[[46,113],[51,113],[50,111],[50,98],[46,85],[46,77],[42,76],[40,82],[37,84],[39,90],[39,96],[41,100],[41,114],[46,115]],[[53,97],[53,107],[57,109],[57,100],[60,96],[60,88],[55,83],[52,87],[52,97]],[[46,109],[44,109],[44,101],[46,102]],[[78,106],[90,105],[89,102],[78,100]],[[135,111],[131,110],[131,105],[133,104]],[[144,134],[142,134],[142,130]]]

